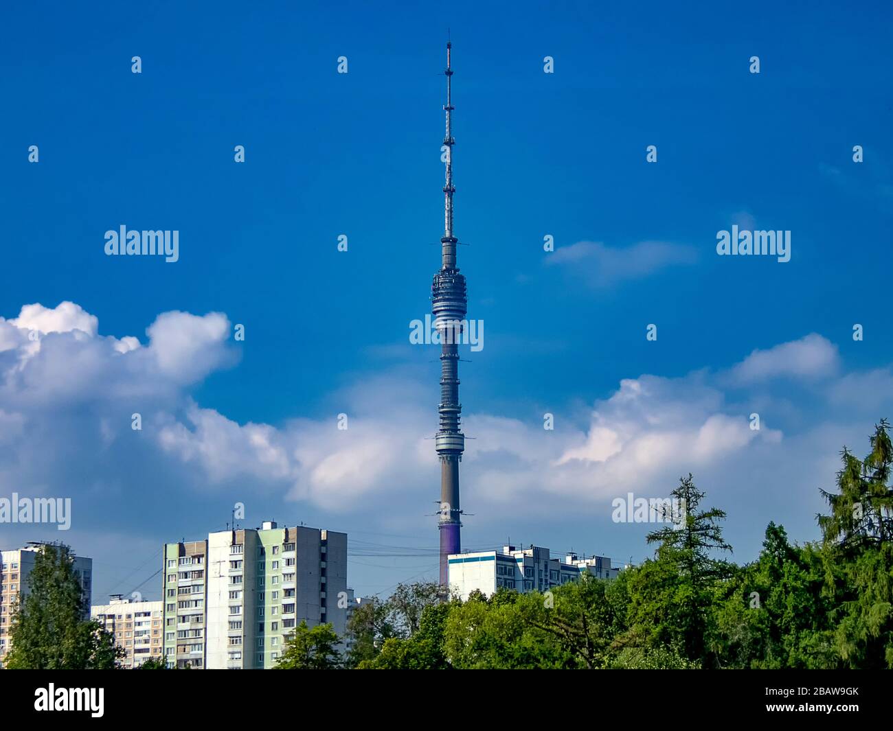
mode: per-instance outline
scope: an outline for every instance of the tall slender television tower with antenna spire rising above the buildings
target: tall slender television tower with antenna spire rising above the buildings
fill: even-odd
[[[459,462],[465,450],[465,436],[459,426],[462,406],[459,404],[459,349],[458,341],[463,332],[463,320],[468,298],[465,278],[455,266],[455,247],[459,239],[453,233],[453,127],[450,65],[450,49],[447,41],[447,135],[444,137],[443,159],[447,166],[444,184],[444,235],[440,239],[441,266],[431,284],[434,327],[438,332],[440,350],[440,428],[436,437],[436,449],[440,460],[440,585],[447,586],[447,556],[462,549],[462,528],[459,508]]]

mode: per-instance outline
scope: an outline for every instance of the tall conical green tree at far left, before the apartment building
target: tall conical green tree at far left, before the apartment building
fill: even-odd
[[[98,622],[84,619],[81,588],[66,545],[40,546],[11,619],[10,669],[113,669],[124,656]]]

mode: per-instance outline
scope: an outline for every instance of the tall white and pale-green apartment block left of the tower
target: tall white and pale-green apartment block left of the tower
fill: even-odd
[[[166,544],[164,567],[170,667],[272,668],[302,621],[345,634],[345,533],[267,521]]]

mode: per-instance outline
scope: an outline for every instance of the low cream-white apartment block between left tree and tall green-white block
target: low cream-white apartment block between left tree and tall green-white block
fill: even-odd
[[[112,594],[107,604],[97,604],[90,616],[114,635],[126,656],[121,668],[138,668],[149,658],[163,658],[162,602],[133,602]]]

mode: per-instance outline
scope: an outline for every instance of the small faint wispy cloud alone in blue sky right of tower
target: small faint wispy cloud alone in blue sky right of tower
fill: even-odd
[[[564,267],[593,287],[648,277],[666,267],[696,261],[693,247],[665,241],[641,241],[624,248],[579,241],[559,247],[546,259],[547,265]]]

